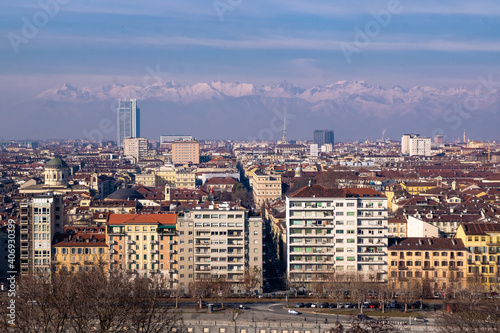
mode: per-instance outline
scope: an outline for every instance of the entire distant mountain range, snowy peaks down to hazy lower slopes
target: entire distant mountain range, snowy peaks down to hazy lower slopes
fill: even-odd
[[[500,94],[486,87],[476,93],[476,89],[456,87],[386,88],[363,81],[313,87],[287,82],[258,86],[170,81],[144,87],[75,87],[66,83],[40,93],[27,104],[25,112],[33,120],[39,117],[40,123],[46,123],[50,117],[54,133],[66,131],[58,137],[99,128],[102,119],[114,124],[116,101],[129,98],[138,100],[142,132],[148,133],[148,137],[182,132],[200,138],[277,140],[282,135],[280,114],[285,109],[288,133],[297,138],[307,138],[314,129],[321,128],[335,130],[336,137],[344,140],[360,135],[378,138],[384,130],[392,138],[413,132],[429,136],[440,133],[456,139],[465,129],[478,136],[491,133],[493,137],[500,122]],[[33,116],[32,111],[37,109],[43,112]],[[20,126],[30,126],[21,115]],[[73,127],[66,126],[68,123]],[[36,132],[37,123],[33,124],[31,130]],[[102,134],[113,139],[116,129],[113,130]]]

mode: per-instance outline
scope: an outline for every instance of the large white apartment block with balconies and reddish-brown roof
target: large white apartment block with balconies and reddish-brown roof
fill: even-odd
[[[287,273],[308,285],[328,275],[387,278],[387,198],[369,188],[306,186],[286,198]]]

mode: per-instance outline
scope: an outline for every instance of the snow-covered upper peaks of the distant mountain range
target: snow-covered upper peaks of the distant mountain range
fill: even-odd
[[[327,100],[359,101],[373,104],[408,104],[419,102],[433,102],[436,100],[455,100],[472,96],[473,91],[465,88],[433,88],[416,86],[404,89],[400,86],[383,88],[373,86],[364,81],[338,81],[326,86],[302,88],[283,81],[277,85],[256,86],[251,83],[227,83],[213,81],[210,83],[196,83],[183,85],[174,81],[160,82],[148,86],[120,85],[104,86],[99,88],[77,88],[65,83],[59,88],[49,89],[37,96],[40,99],[53,101],[91,102],[106,99],[136,98],[154,99],[174,103],[189,104],[203,100],[240,98],[260,96],[264,98],[298,98],[309,103],[318,103]],[[495,90],[490,93],[488,104],[498,97]]]

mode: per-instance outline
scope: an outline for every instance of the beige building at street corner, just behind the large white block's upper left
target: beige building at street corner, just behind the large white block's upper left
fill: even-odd
[[[261,207],[266,201],[281,198],[281,175],[256,170],[251,179],[253,201]]]

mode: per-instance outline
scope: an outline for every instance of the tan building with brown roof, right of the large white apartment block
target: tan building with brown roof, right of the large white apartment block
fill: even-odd
[[[465,286],[466,248],[460,239],[412,237],[397,241],[388,251],[389,284],[394,290],[418,285],[432,297]]]

